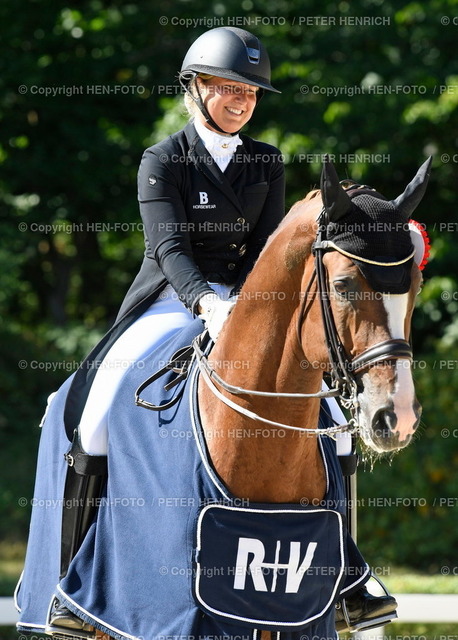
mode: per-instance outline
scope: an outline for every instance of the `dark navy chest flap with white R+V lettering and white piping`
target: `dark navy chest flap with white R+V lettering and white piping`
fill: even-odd
[[[212,504],[197,521],[194,597],[210,616],[271,631],[334,615],[344,518],[296,505]]]

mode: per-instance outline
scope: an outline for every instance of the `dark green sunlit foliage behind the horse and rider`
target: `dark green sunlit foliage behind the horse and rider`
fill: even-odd
[[[185,122],[184,53],[232,25],[261,37],[282,91],[247,132],[285,154],[288,205],[318,183],[324,153],[388,197],[434,156],[416,216],[433,243],[413,325],[423,426],[360,474],[359,539],[374,565],[454,567],[457,0],[7,0],[0,25],[0,536],[26,539],[18,501],[32,496],[46,396],[109,327],[140,264],[137,167]]]

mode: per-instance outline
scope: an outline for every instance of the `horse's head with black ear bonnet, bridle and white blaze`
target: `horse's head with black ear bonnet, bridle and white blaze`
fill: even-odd
[[[365,186],[344,189],[333,165],[323,168],[314,254],[326,342],[360,435],[379,453],[405,447],[421,415],[408,340],[425,245],[409,219],[430,164],[392,201]]]

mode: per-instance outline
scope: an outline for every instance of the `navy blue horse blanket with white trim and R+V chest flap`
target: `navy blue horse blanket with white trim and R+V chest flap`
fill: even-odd
[[[200,321],[133,366],[109,415],[108,476],[97,515],[59,580],[69,441],[67,380],[43,423],[18,629],[43,632],[55,596],[119,640],[337,638],[334,605],[368,578],[347,535],[334,442],[319,436],[323,504],[250,504],[212,468],[191,369],[179,402],[160,412],[134,404],[138,386],[202,329]],[[173,377],[173,373],[168,374]],[[145,392],[163,404],[167,377]],[[216,401],[216,400],[215,400]]]

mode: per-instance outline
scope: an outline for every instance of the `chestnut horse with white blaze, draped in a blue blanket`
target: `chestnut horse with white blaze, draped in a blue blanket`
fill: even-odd
[[[424,193],[429,164],[394,201],[399,225],[391,223],[392,235],[408,224]],[[331,164],[324,168],[322,184],[326,193],[315,191],[296,203],[270,238],[211,352],[213,369],[227,385],[271,396],[238,395],[216,383],[219,394],[230,399],[232,406],[228,406],[221,396],[215,400],[211,382],[201,378],[199,384],[202,423],[215,469],[231,492],[255,502],[320,500],[325,490],[317,439],[300,430],[316,429],[323,373],[332,372],[320,308],[326,292],[319,290],[313,254],[318,251],[317,231],[325,224],[323,204],[328,223],[339,219],[345,224],[351,200],[338,184]],[[375,200],[378,194],[374,196]],[[369,231],[371,220],[368,215]],[[375,224],[373,229],[375,233]],[[387,225],[383,233],[389,235]],[[358,256],[348,257],[337,245],[332,249],[318,259],[326,271],[333,328],[347,364],[354,363],[354,424],[373,451],[401,449],[411,441],[421,414],[406,342],[421,272],[415,261],[406,262],[411,281],[408,291],[381,293],[371,288],[356,266],[353,259]],[[392,256],[393,268],[405,257]],[[248,366],[233,366],[247,362]],[[350,373],[352,367],[347,369],[344,373]],[[280,438],[272,427],[271,437],[262,437],[267,433],[259,429],[263,423],[234,408],[234,401],[262,419],[279,423],[279,429],[290,425],[299,430],[283,429]],[[214,425],[218,425],[218,437],[212,436]],[[260,437],[243,437],[255,435],[256,429]]]

